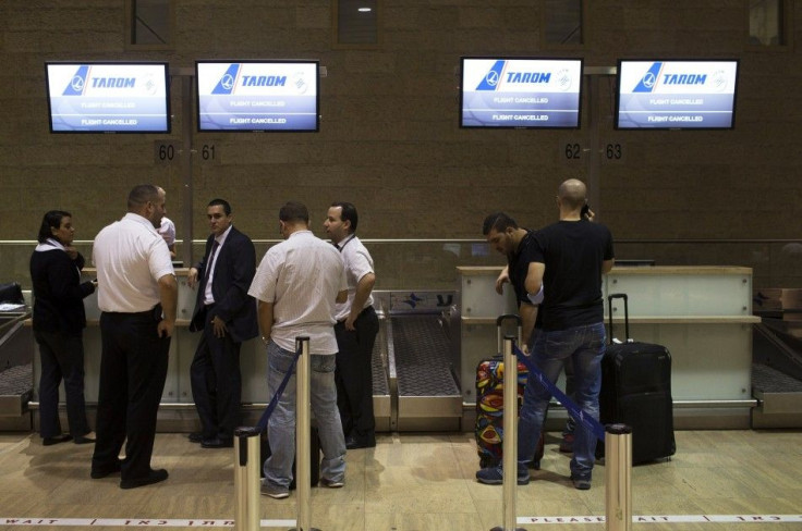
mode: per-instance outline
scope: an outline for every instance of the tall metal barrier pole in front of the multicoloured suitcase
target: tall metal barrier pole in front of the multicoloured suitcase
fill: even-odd
[[[520,338],[519,338],[520,339]],[[515,515],[515,487],[518,486],[518,357],[515,356],[515,337],[505,336],[503,367],[503,441],[502,452],[502,498],[503,526],[490,531],[524,531],[518,528]]]

